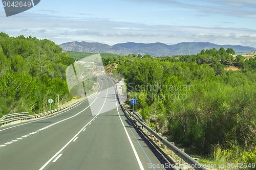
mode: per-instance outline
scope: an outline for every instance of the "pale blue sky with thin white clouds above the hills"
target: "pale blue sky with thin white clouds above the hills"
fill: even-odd
[[[208,41],[256,47],[256,0],[41,0],[10,17],[1,4],[0,32],[57,44]]]

